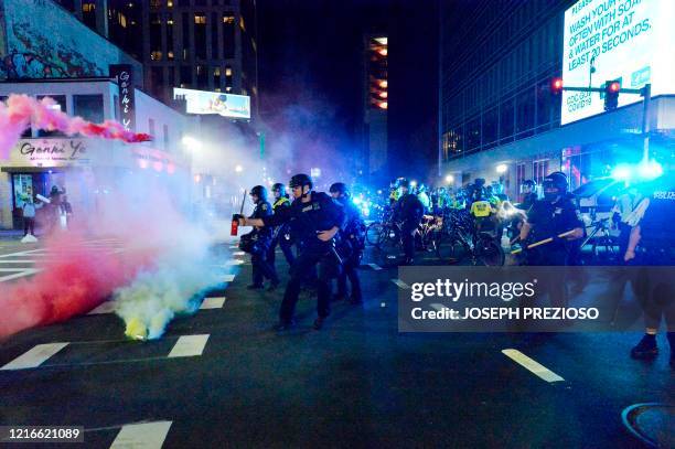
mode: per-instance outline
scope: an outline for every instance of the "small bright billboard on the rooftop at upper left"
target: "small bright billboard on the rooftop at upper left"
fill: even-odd
[[[217,114],[229,118],[250,118],[250,97],[174,87],[173,98],[184,97],[188,114]]]

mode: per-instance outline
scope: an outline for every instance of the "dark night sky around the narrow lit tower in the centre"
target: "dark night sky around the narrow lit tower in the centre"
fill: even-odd
[[[363,36],[384,32],[389,36],[389,174],[427,175],[437,154],[436,4],[259,0],[262,119],[289,125],[296,118],[288,110],[300,107],[313,118],[304,116],[303,127],[319,138],[336,138],[332,145],[349,154],[362,139]],[[403,158],[405,169],[396,164]]]

